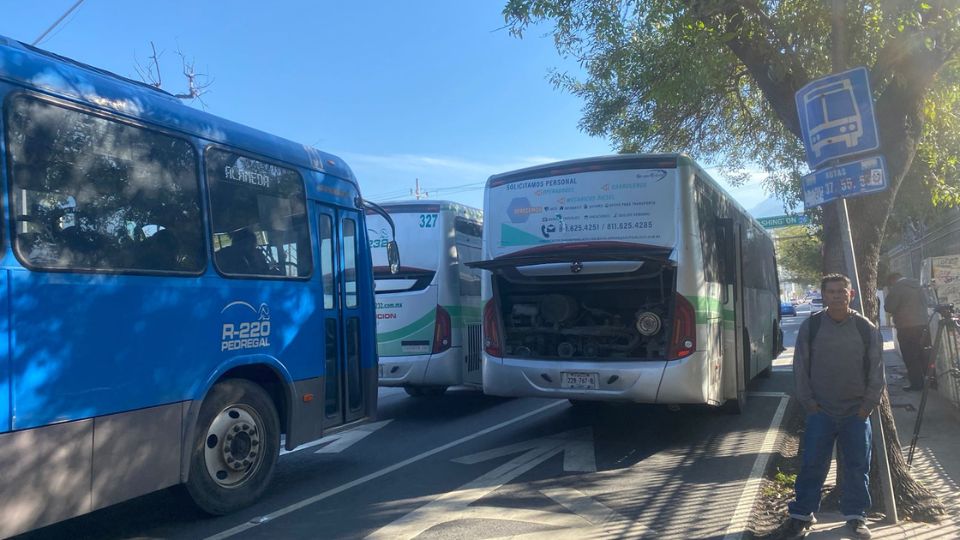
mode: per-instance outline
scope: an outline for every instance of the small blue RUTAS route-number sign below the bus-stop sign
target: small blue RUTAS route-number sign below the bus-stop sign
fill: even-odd
[[[803,177],[803,206],[810,210],[841,197],[857,197],[887,189],[887,161],[872,156]]]

